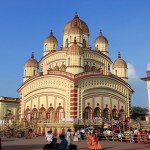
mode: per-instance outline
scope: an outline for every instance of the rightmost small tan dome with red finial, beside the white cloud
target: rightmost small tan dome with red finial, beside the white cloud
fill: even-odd
[[[118,58],[113,63],[113,68],[127,68],[127,63],[121,59],[120,52],[118,53]]]

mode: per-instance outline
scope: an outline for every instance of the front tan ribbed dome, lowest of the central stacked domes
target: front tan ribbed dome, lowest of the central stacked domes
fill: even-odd
[[[67,55],[82,55],[83,49],[77,45],[76,41],[68,48]]]

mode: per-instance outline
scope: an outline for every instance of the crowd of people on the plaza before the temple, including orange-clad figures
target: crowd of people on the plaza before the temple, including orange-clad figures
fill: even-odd
[[[79,140],[86,139],[86,143],[89,150],[102,150],[102,146],[99,143],[100,135],[110,136],[112,140],[118,141],[128,141],[130,143],[143,143],[147,144],[150,143],[150,131],[137,129],[135,128],[130,129],[126,132],[123,132],[120,130],[119,132],[114,132],[111,130],[105,130],[104,132],[98,132],[96,129],[83,129],[76,130],[74,133],[72,133],[71,129],[68,129],[66,134],[61,134],[59,136],[60,143],[57,143],[57,137],[55,137],[52,133],[52,131],[48,131],[45,138],[47,141],[47,144],[44,146],[43,150],[77,150],[77,145],[75,142]],[[128,134],[128,136],[127,136]],[[107,139],[106,139],[107,140]]]

